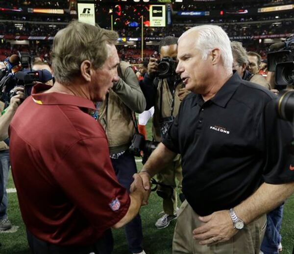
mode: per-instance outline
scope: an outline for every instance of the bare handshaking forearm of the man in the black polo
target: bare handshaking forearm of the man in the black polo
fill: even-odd
[[[168,149],[163,143],[159,143],[143,166],[141,172],[146,171],[150,177],[153,177],[160,172],[168,162],[171,162],[175,156],[176,153]]]

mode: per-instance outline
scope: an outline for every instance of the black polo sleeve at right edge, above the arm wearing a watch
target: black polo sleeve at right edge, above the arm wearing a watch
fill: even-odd
[[[266,164],[263,177],[268,184],[294,182],[294,146],[291,123],[278,116],[277,99],[271,99],[264,111]]]

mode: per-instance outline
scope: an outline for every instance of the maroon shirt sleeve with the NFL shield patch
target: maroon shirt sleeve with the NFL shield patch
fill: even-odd
[[[77,141],[52,173],[73,204],[98,230],[112,227],[126,214],[130,198],[118,183],[105,138]]]

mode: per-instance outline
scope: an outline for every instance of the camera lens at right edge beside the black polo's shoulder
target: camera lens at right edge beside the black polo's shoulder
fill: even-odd
[[[279,93],[277,110],[279,116],[287,121],[293,121],[294,90],[283,90]]]

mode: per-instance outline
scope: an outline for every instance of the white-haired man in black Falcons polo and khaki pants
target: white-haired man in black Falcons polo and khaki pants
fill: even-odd
[[[232,72],[221,27],[189,29],[179,38],[178,59],[176,71],[192,93],[144,165],[144,186],[180,153],[187,201],[173,254],[259,253],[265,213],[294,192],[291,125],[277,118],[272,92]]]

